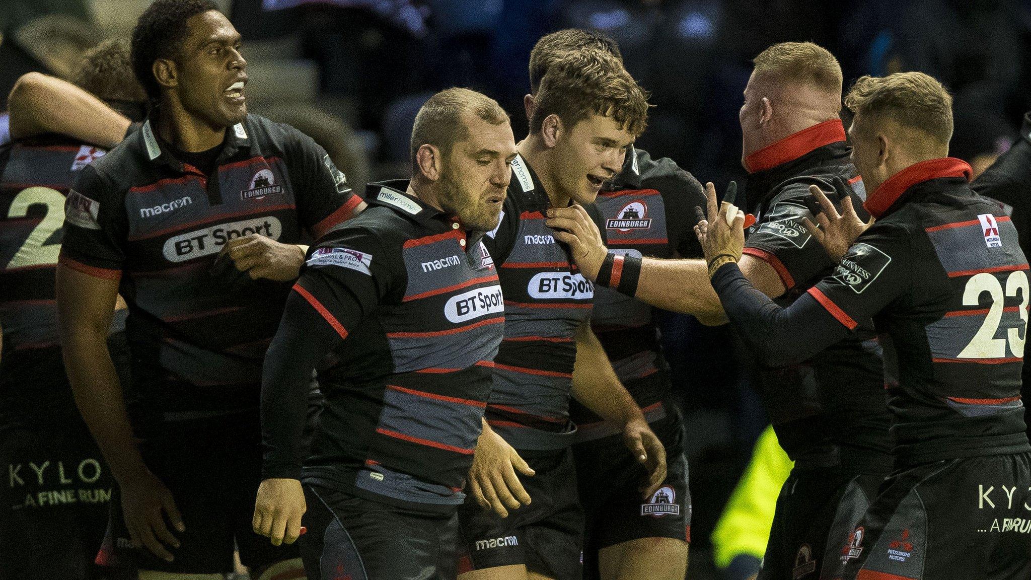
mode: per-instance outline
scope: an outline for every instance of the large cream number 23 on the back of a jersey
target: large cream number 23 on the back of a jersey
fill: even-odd
[[[996,339],[995,332],[999,329],[1002,313],[1005,310],[1003,307],[1005,296],[1017,296],[1018,290],[1021,291],[1021,305],[1018,310],[1021,315],[1021,325],[1018,328],[1007,328],[1005,339]],[[1027,273],[1024,270],[1010,273],[1009,278],[1006,279],[1005,294],[1002,292],[1002,284],[994,275],[988,272],[975,275],[967,281],[966,290],[963,291],[963,305],[978,305],[980,295],[984,292],[988,292],[992,296],[992,305],[988,309],[985,322],[982,323],[970,344],[959,354],[959,358],[1005,358],[1007,342],[1013,356],[1023,357],[1028,323]]]

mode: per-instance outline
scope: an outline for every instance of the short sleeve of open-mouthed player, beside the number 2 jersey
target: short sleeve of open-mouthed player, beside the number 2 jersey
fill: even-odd
[[[96,278],[119,280],[128,231],[120,192],[87,165],[65,199],[60,262]]]

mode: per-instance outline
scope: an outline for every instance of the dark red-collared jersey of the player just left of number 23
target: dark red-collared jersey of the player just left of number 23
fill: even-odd
[[[809,208],[809,186],[820,186],[835,203],[852,196],[853,205],[865,218],[861,202],[866,194],[850,161],[851,152],[841,122],[835,119],[745,160],[747,199],[756,204],[751,210],[757,223],[750,230],[744,253],[776,270],[786,288],[774,299],[781,307],[794,302],[834,267],[802,223],[805,217],[816,221]],[[821,454],[832,449],[831,444],[845,446],[843,451],[891,451],[884,365],[868,319],[860,322],[864,324],[859,331],[810,360],[757,368],[763,402],[780,446],[792,459]],[[842,382],[847,389],[840,388]]]

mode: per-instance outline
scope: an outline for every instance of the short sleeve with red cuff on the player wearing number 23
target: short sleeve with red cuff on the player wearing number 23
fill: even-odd
[[[850,329],[902,298],[909,289],[909,237],[896,226],[874,224],[845,252],[830,276],[808,290]]]

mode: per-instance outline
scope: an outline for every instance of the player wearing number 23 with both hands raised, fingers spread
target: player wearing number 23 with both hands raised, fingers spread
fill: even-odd
[[[712,286],[768,359],[804,360],[871,317],[888,337],[896,471],[839,549],[843,578],[1027,578],[1020,387],[1031,288],[1017,230],[970,189],[970,166],[946,157],[952,97],[937,80],[864,76],[844,102],[876,222],[847,201],[839,215],[813,187],[823,214],[809,231],[840,262],[784,309],[741,275],[743,215],[718,210],[708,188],[710,221],[697,232]]]

